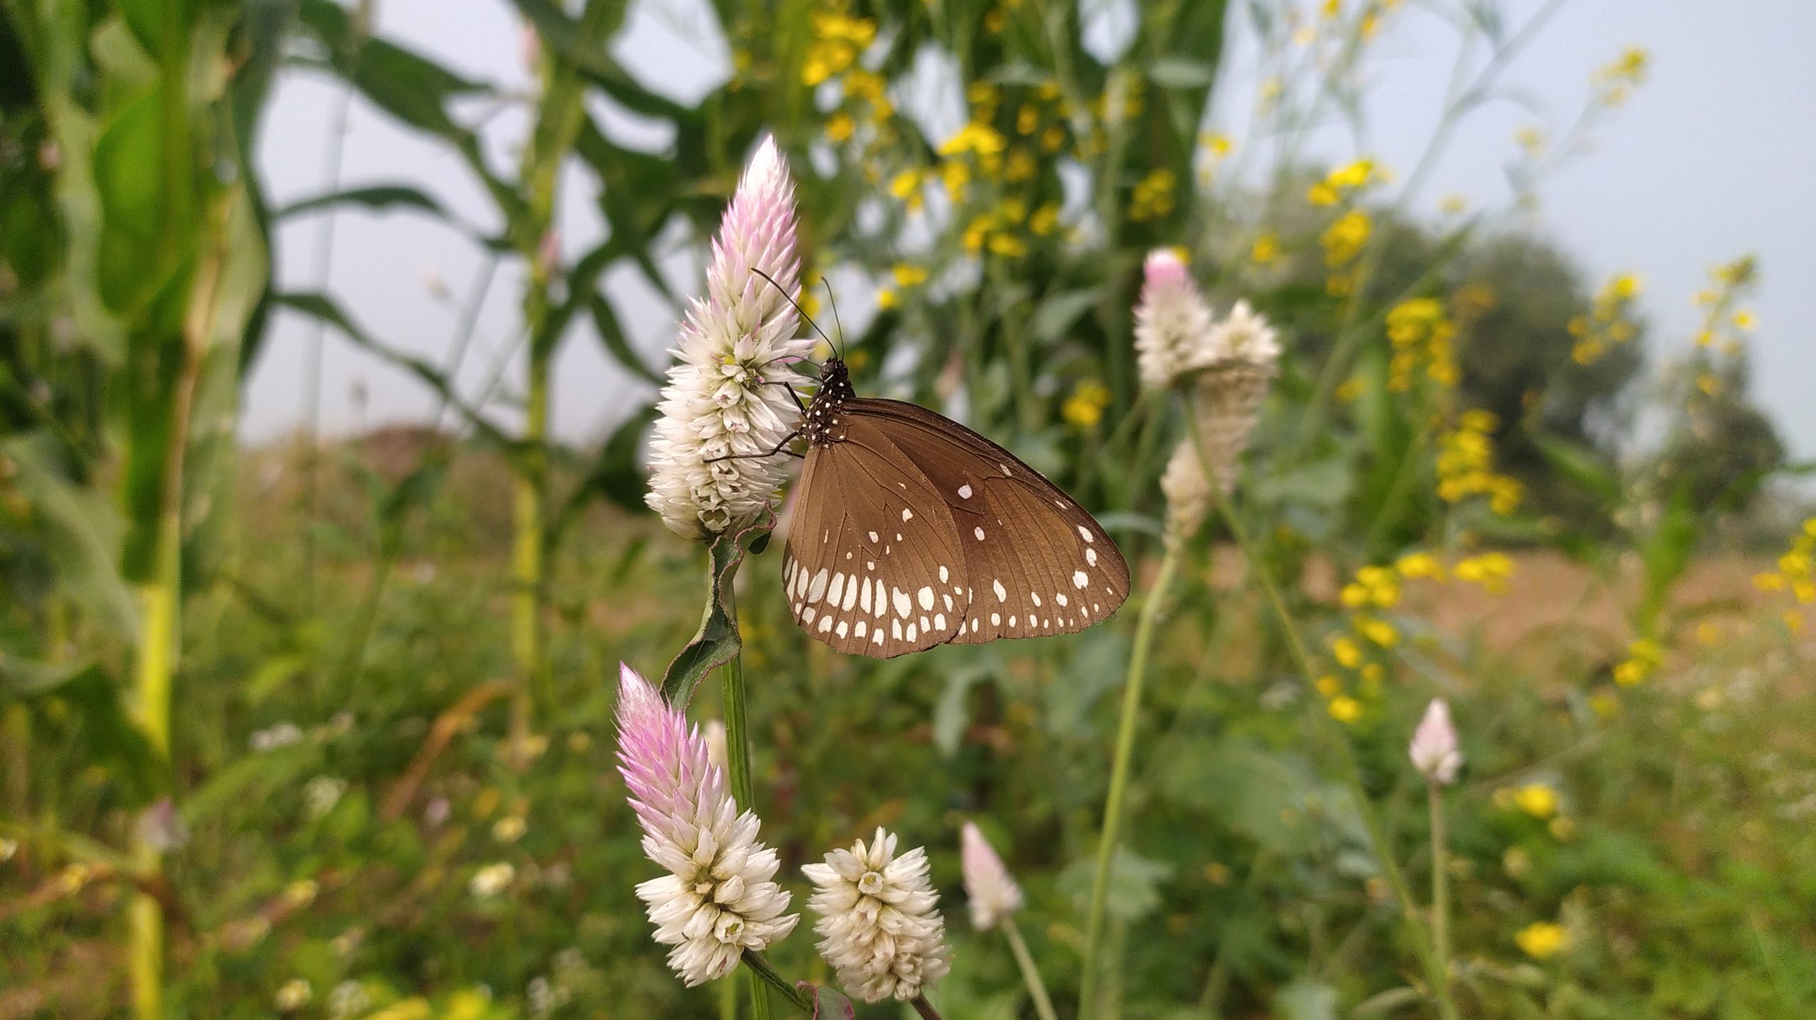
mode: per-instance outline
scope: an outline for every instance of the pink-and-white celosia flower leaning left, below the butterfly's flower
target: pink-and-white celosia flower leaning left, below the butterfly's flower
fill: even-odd
[[[643,826],[643,853],[668,875],[637,886],[668,966],[688,986],[725,976],[745,949],[790,931],[790,895],[775,851],[757,842],[757,817],[739,813],[706,739],[630,666],[617,682],[617,771]]]

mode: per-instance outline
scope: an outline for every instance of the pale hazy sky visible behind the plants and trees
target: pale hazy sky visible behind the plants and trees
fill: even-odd
[[[1086,0],[1099,7],[1099,0]],[[1540,4],[1504,4],[1522,22]],[[694,4],[679,0],[634,5],[625,36],[614,51],[645,80],[668,94],[697,96],[723,76],[723,44],[703,38],[705,20]],[[380,33],[434,54],[450,67],[523,89],[516,15],[503,0],[381,0]],[[1384,33],[1369,93],[1371,156],[1409,169],[1429,136],[1451,58],[1451,34],[1429,15],[1406,5]],[[1593,281],[1613,272],[1638,272],[1645,281],[1642,309],[1653,323],[1654,367],[1683,350],[1694,329],[1691,296],[1705,287],[1707,267],[1740,254],[1760,256],[1762,287],[1752,309],[1760,327],[1754,341],[1754,394],[1774,416],[1798,457],[1816,456],[1816,42],[1812,0],[1574,0],[1538,36],[1515,65],[1511,82],[1535,109],[1502,103],[1476,114],[1426,189],[1426,205],[1458,192],[1475,205],[1495,205],[1507,194],[1504,165],[1511,136],[1527,123],[1554,125],[1574,114],[1589,74],[1627,45],[1653,54],[1651,80],[1631,103],[1594,134],[1594,151],[1549,178],[1535,227],[1554,238]],[[1255,89],[1253,62],[1237,51],[1224,67],[1219,111],[1239,107]],[[303,73],[280,78],[267,113],[260,165],[272,203],[311,196],[325,187],[323,142],[340,85]],[[525,116],[514,105],[490,113],[485,138],[494,165],[510,167]],[[630,138],[659,145],[666,132],[601,111]],[[1329,136],[1331,160],[1355,156],[1347,142]],[[434,142],[414,136],[363,100],[352,105],[343,160],[343,183],[409,181],[487,229],[496,223],[487,200],[465,167]],[[592,212],[590,185],[568,174],[568,201],[561,212],[563,250],[592,247],[601,225]],[[340,212],[336,220],[329,289],[341,305],[383,341],[439,361],[454,332],[454,309],[425,287],[439,276],[454,299],[465,298],[479,252],[459,234],[421,216]],[[320,218],[298,218],[278,236],[280,285],[316,290]],[[676,283],[686,285],[692,267],[670,260]],[[507,265],[479,316],[479,338],[461,381],[476,392],[494,359],[514,336],[521,274]],[[674,334],[674,312],[639,292],[634,274],[607,278],[632,341],[665,363]],[[857,301],[852,301],[857,303]],[[608,365],[590,327],[574,330],[556,367],[554,421],[558,436],[594,441],[648,390],[627,383]],[[311,336],[305,319],[281,314],[245,394],[242,432],[263,441],[303,421],[301,367]],[[508,396],[512,378],[507,376]],[[365,392],[363,410],[356,390]],[[329,338],[323,372],[323,421],[331,432],[350,432],[389,421],[423,421],[432,396],[416,381]]]

